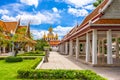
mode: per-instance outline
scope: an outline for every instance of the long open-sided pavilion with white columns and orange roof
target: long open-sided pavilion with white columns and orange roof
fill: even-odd
[[[93,66],[120,66],[119,5],[120,0],[103,0],[64,36],[59,44],[60,53]]]

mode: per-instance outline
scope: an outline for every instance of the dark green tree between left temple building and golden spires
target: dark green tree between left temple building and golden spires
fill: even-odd
[[[45,41],[44,39],[39,39],[39,40],[37,40],[37,44],[35,46],[35,49],[43,51],[45,46],[49,46],[48,42]]]

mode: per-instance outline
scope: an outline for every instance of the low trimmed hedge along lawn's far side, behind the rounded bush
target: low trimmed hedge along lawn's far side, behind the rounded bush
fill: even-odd
[[[18,54],[18,56],[45,56],[44,51],[31,51],[25,52],[24,54]]]

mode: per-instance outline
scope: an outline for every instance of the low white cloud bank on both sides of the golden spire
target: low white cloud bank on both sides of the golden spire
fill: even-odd
[[[53,33],[58,34],[59,39],[62,39],[63,36],[65,36],[73,27],[62,27],[57,26],[56,28],[53,28]],[[44,32],[47,34],[47,30],[31,30],[31,33],[34,35],[35,39],[40,39],[43,37]]]

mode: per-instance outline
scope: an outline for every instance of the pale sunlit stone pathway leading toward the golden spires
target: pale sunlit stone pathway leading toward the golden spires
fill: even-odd
[[[42,64],[41,69],[81,69],[57,52],[50,52],[48,60],[49,62]]]

